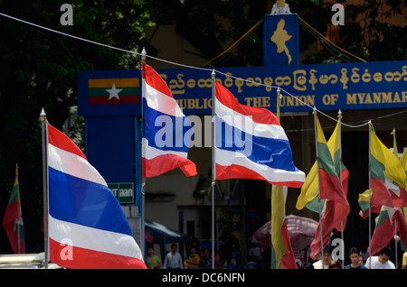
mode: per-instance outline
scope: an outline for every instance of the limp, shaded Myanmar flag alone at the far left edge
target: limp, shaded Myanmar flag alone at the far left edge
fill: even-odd
[[[21,213],[20,188],[18,184],[18,167],[15,168],[14,187],[5,208],[3,227],[15,254],[25,253],[24,226]]]

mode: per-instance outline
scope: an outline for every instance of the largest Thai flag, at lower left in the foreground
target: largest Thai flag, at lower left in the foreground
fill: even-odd
[[[48,125],[50,261],[67,268],[146,269],[118,200],[85,155]]]

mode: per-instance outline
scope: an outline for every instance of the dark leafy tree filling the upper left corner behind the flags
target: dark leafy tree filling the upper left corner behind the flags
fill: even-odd
[[[71,35],[141,51],[149,24],[143,1],[72,0],[73,25],[60,17],[65,1],[1,1],[0,12]],[[77,105],[77,73],[92,69],[137,69],[139,57],[49,32],[0,16],[0,214],[4,215],[14,167],[20,187],[27,252],[43,243],[43,163],[39,115],[61,128]],[[11,252],[0,232],[0,253]],[[37,250],[38,251],[38,250]]]

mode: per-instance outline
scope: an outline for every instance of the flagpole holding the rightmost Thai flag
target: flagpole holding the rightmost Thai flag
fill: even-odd
[[[216,163],[215,163],[215,72],[212,70],[212,181],[211,181],[211,191],[212,191],[212,269],[214,269],[214,187],[216,184]]]

